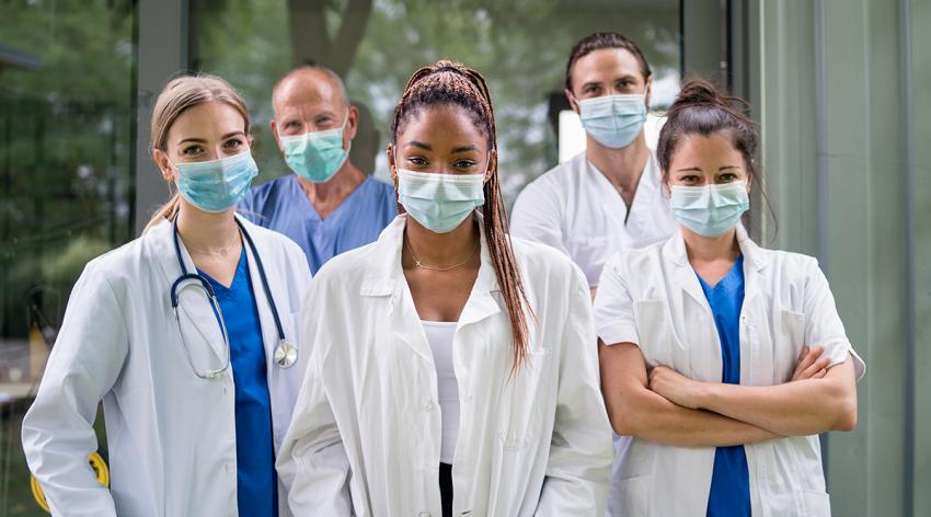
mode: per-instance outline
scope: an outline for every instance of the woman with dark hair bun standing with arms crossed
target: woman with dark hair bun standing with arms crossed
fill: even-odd
[[[740,225],[759,188],[740,103],[683,85],[657,146],[679,231],[601,273],[605,401],[633,437],[611,515],[830,515],[817,435],[857,425],[864,364],[817,261]]]

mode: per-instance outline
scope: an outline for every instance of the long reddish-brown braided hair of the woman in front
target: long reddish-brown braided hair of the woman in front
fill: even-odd
[[[485,78],[462,64],[446,60],[438,61],[432,67],[421,68],[411,76],[404,94],[401,95],[394,108],[394,119],[391,123],[392,145],[396,147],[398,134],[403,130],[412,116],[423,110],[442,105],[459,106],[469,113],[475,127],[487,138],[489,150],[497,150],[495,114]],[[510,317],[510,331],[514,336],[512,374],[514,374],[527,360],[530,341],[527,318],[532,317],[533,311],[524,290],[524,283],[510,246],[507,215],[498,182],[497,160],[490,171],[484,193],[483,226],[495,276]],[[402,206],[398,208],[401,211],[404,209]]]

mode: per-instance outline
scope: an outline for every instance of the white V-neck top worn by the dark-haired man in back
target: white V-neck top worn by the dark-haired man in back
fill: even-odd
[[[581,152],[524,188],[510,232],[562,251],[595,287],[611,254],[665,241],[678,228],[662,181],[651,150],[628,215],[620,193]]]

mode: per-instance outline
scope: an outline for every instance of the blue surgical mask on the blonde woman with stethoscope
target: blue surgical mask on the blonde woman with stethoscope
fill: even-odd
[[[195,207],[214,212],[235,206],[258,175],[250,151],[206,162],[179,162],[174,168],[181,195]]]

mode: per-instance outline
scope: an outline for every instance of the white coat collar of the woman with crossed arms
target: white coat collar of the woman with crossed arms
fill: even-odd
[[[742,223],[737,223],[737,245],[740,246],[740,253],[744,255],[744,302],[746,303],[757,296],[765,285],[760,272],[769,264],[769,254],[750,239]],[[711,311],[698,276],[689,263],[681,228],[663,245],[663,255],[676,264],[674,276],[682,290]]]

